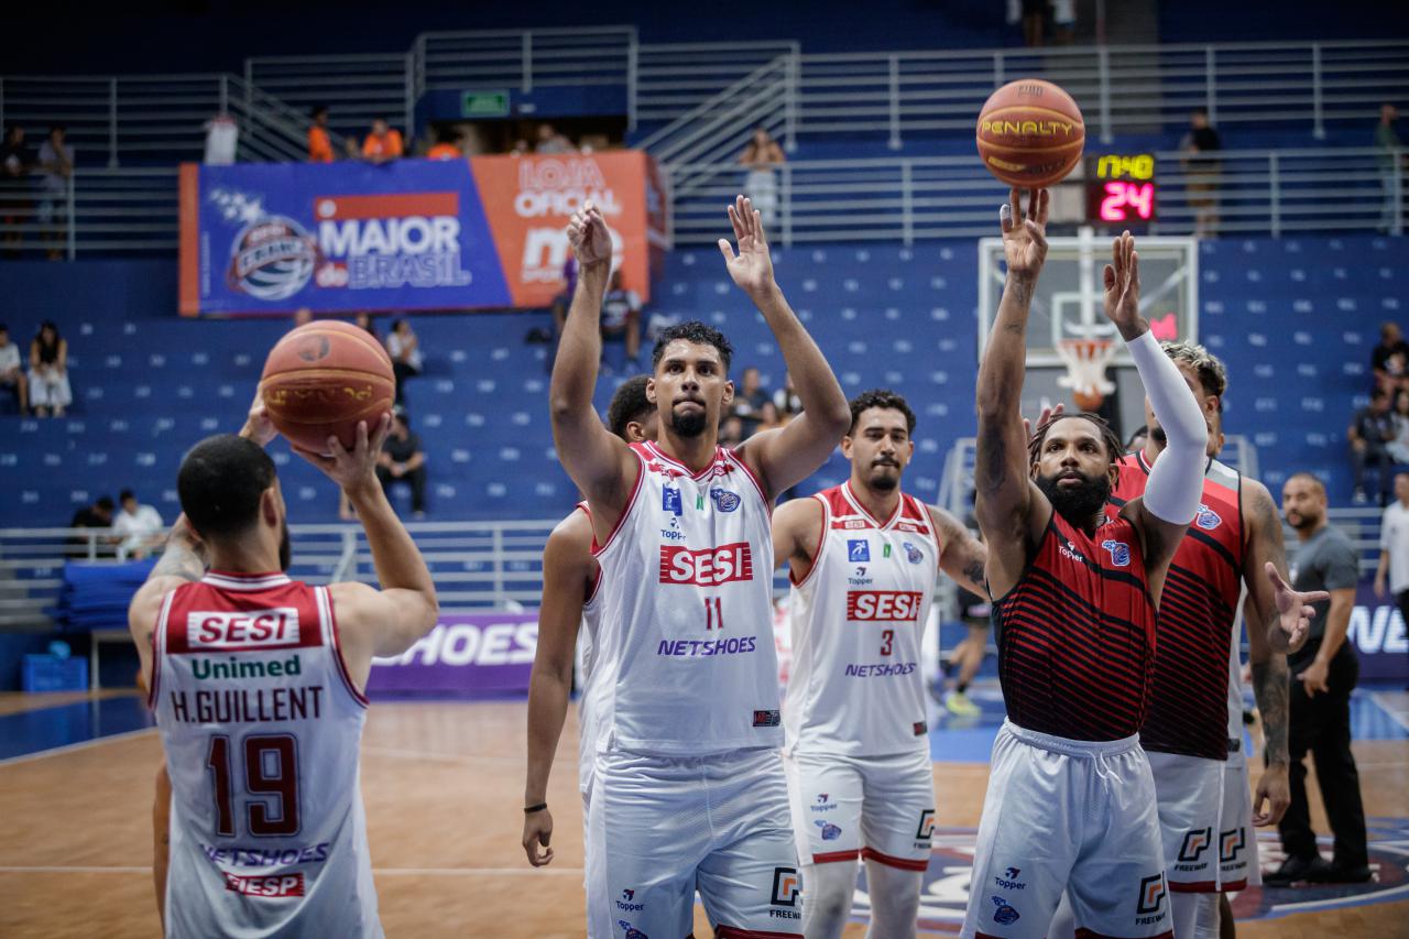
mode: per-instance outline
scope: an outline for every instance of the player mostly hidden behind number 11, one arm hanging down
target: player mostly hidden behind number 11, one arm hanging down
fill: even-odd
[[[621,440],[655,440],[658,419],[655,405],[645,396],[648,375],[621,383],[607,407],[607,427]],[[600,627],[602,606],[597,588],[602,570],[592,560],[592,522],[586,502],[558,523],[542,550],[542,602],[538,606],[538,649],[534,651],[533,677],[528,681],[528,777],[524,805],[544,808],[524,815],[524,852],[528,863],[542,867],[552,863],[552,814],[548,812],[548,774],[558,750],[562,722],[572,694],[573,653],[578,630],[582,632],[582,696],[578,699],[578,791],[582,792],[583,823],[592,795],[593,740],[588,694],[592,687],[592,661]],[[538,849],[542,847],[540,852]]]

